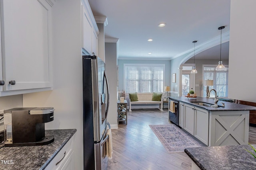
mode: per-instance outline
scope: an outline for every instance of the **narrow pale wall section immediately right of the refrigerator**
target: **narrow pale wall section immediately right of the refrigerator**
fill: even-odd
[[[106,74],[108,76],[110,103],[108,110],[108,122],[111,129],[118,128],[117,125],[117,73],[116,73],[117,44],[105,43]]]

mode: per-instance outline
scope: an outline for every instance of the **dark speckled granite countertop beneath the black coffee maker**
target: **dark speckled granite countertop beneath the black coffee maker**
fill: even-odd
[[[0,169],[43,170],[75,133],[76,129],[46,130],[45,135],[54,136],[53,143],[31,147],[2,147]],[[4,164],[4,160],[9,164]]]

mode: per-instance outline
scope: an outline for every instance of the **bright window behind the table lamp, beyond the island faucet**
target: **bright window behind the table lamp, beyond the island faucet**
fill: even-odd
[[[217,96],[228,97],[228,66],[224,71],[216,71],[216,65],[203,65],[203,80],[213,80],[213,86],[209,86],[209,90],[214,88]],[[206,83],[203,88],[203,97],[206,97]],[[214,97],[211,92],[210,97]]]

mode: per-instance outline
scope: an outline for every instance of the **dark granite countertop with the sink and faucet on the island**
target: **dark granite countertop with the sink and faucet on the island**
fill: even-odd
[[[196,107],[201,107],[202,109],[206,109],[209,111],[232,111],[232,110],[256,110],[256,107],[254,106],[247,106],[243,104],[235,104],[231,102],[224,102],[224,101],[218,101],[218,106],[222,106],[221,103],[225,104],[225,107],[206,107],[201,106],[198,104],[193,104],[193,102],[206,102],[210,104],[214,104],[214,99],[212,98],[202,98],[202,97],[196,97],[196,98],[188,98],[187,97],[168,97],[172,100],[177,100],[186,104],[190,104]]]

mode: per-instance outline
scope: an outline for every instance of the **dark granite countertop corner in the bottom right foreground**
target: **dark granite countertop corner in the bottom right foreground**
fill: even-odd
[[[252,145],[256,148],[256,145]],[[186,154],[201,170],[255,170],[255,153],[250,145],[186,148]]]

